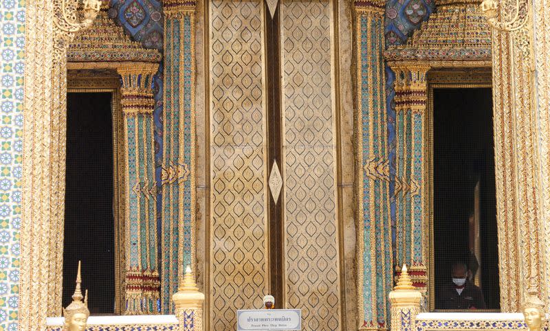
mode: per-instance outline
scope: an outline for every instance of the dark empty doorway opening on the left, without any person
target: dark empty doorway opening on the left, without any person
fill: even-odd
[[[112,122],[111,93],[67,93],[63,307],[81,260],[91,314],[115,304]]]

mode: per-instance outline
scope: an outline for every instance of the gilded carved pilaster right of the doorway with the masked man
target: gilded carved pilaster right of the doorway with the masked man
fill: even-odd
[[[531,111],[531,43],[526,37],[526,1],[502,1],[500,23],[489,14],[487,2],[481,9],[493,29],[493,102],[496,204],[500,307],[518,311],[527,279],[540,275],[538,170],[533,145]],[[517,8],[516,8],[517,7]],[[494,8],[496,10],[496,7]],[[517,14],[516,14],[517,13]],[[523,23],[520,23],[523,21]],[[518,23],[520,23],[518,25]],[[527,23],[531,25],[532,22]],[[509,32],[511,30],[518,30]],[[530,32],[527,32],[527,35]],[[518,60],[515,60],[518,58]],[[540,280],[540,279],[539,279]]]

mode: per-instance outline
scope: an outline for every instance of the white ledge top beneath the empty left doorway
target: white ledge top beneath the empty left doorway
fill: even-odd
[[[65,323],[64,317],[47,317],[47,326],[62,326]],[[124,326],[124,325],[160,325],[177,324],[175,315],[124,315],[124,316],[90,316],[87,324],[89,326]]]

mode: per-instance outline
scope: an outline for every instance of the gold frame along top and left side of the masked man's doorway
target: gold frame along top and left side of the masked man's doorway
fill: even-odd
[[[426,109],[426,140],[424,148],[426,152],[426,179],[428,185],[428,199],[426,201],[426,211],[428,212],[428,228],[430,229],[430,258],[428,262],[428,295],[429,295],[429,311],[435,310],[435,282],[434,282],[434,163],[433,163],[433,112],[434,112],[434,89],[477,89],[477,88],[492,88],[492,76],[490,68],[480,69],[458,69],[453,71],[434,70],[428,72],[428,95]],[[494,133],[493,133],[494,135]],[[495,157],[496,158],[496,157]],[[425,193],[425,194],[426,194]],[[495,309],[486,309],[485,312],[498,312]]]

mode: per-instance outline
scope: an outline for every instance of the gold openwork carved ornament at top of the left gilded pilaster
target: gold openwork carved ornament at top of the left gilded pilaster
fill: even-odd
[[[101,8],[101,0],[54,0],[56,62],[63,62],[76,32],[89,27]]]

